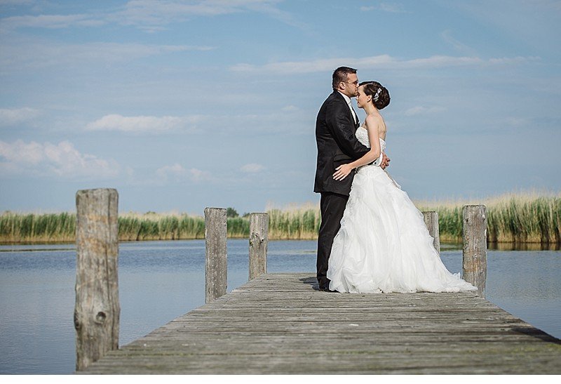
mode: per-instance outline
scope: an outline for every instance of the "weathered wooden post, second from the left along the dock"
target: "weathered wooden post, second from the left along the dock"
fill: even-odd
[[[224,208],[205,208],[205,303],[226,294],[227,219]]]

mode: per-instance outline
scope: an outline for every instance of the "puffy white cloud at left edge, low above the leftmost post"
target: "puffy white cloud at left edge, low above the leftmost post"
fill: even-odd
[[[60,178],[115,178],[119,166],[92,154],[81,154],[69,141],[58,144],[0,141],[0,173]]]

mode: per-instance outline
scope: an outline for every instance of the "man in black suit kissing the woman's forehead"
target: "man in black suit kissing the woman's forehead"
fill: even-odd
[[[316,119],[316,143],[318,164],[313,192],[321,194],[321,224],[318,234],[317,277],[320,291],[330,291],[327,268],[333,238],[341,227],[346,201],[351,192],[354,173],[343,180],[334,180],[335,168],[363,157],[369,148],[355,137],[359,126],[358,116],[351,105],[351,98],[358,95],[356,69],[339,67],[333,72],[333,93],[327,97]],[[389,163],[385,154],[374,164],[386,168]]]

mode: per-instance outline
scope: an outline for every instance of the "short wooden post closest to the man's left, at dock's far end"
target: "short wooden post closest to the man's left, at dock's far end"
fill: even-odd
[[[250,280],[267,272],[269,214],[250,214]]]

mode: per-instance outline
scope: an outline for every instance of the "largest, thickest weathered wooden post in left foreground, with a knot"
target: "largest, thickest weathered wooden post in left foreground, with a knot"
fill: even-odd
[[[76,371],[119,348],[119,194],[76,192]]]

